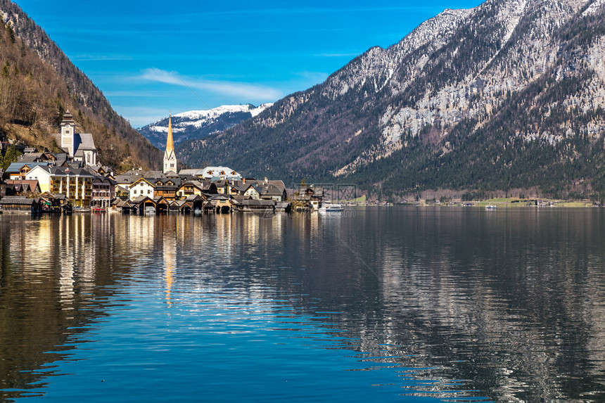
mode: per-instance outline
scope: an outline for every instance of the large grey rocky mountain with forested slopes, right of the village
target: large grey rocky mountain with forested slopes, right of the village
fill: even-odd
[[[605,1],[487,0],[179,149],[374,193],[605,191]]]

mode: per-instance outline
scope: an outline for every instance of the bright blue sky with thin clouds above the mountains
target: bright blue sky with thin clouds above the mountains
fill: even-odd
[[[478,0],[16,0],[134,127],[273,102]]]

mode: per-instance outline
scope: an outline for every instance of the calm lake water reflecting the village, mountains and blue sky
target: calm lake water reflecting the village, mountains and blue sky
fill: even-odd
[[[605,210],[0,216],[0,401],[603,402],[604,370]]]

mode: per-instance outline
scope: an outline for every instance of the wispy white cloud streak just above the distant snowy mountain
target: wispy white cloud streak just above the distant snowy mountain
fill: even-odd
[[[143,74],[139,76],[152,82],[162,82],[164,84],[173,84],[180,87],[200,89],[213,94],[222,94],[228,96],[239,96],[242,101],[270,101],[276,100],[284,96],[279,89],[265,87],[257,84],[248,84],[243,82],[227,82],[207,79],[192,79],[183,77],[178,72],[160,70],[158,68],[148,68],[143,70]]]

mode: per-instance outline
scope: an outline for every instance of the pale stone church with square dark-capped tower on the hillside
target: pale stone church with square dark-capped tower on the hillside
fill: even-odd
[[[55,134],[57,143],[74,161],[83,165],[96,165],[96,147],[89,133],[76,133],[75,121],[69,110],[65,111],[61,121],[61,132]]]

